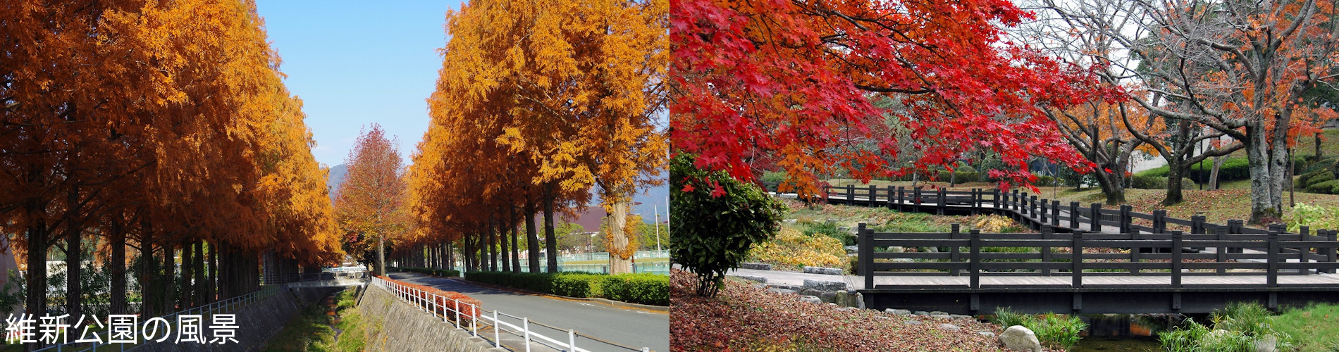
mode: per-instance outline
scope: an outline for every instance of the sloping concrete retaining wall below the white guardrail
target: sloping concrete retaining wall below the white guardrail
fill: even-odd
[[[366,351],[392,352],[505,352],[493,348],[469,331],[432,317],[423,309],[402,302],[391,293],[368,285],[359,300],[359,313],[371,329]]]

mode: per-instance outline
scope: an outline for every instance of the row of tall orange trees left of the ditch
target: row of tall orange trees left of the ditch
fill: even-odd
[[[254,290],[261,252],[295,270],[343,256],[265,36],[242,0],[0,4],[0,226],[27,313],[46,313],[52,252],[71,316],[92,294],[134,313],[130,262],[151,316]],[[80,292],[83,261],[108,292]]]

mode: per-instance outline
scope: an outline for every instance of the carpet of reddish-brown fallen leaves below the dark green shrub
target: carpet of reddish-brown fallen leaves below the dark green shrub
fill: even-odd
[[[976,333],[1002,329],[975,320],[840,309],[728,280],[716,297],[702,298],[695,286],[692,273],[674,270],[671,351],[1003,351],[994,337]],[[961,329],[941,329],[943,323]]]

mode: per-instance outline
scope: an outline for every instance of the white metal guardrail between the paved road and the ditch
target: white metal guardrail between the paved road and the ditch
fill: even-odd
[[[557,339],[553,339],[553,337],[549,337],[549,336],[544,336],[541,333],[530,331],[530,319],[529,317],[518,317],[518,316],[513,316],[513,315],[507,315],[507,313],[501,313],[497,309],[494,309],[491,312],[491,316],[490,316],[490,312],[482,311],[482,309],[479,309],[479,306],[475,306],[474,304],[461,302],[459,300],[449,298],[449,297],[445,297],[445,296],[441,296],[441,294],[437,294],[437,293],[431,293],[431,292],[426,292],[426,290],[420,290],[420,289],[416,289],[416,288],[404,286],[404,285],[400,285],[398,282],[383,280],[380,277],[372,277],[372,285],[375,285],[375,286],[378,286],[380,289],[384,289],[386,292],[390,292],[391,294],[395,294],[395,297],[400,298],[402,301],[406,301],[408,304],[414,304],[414,305],[422,306],[423,312],[431,313],[434,316],[441,316],[443,323],[451,321],[451,317],[454,316],[455,317],[455,320],[454,320],[455,321],[455,328],[457,329],[469,329],[470,335],[473,335],[473,336],[487,339],[487,336],[481,336],[479,335],[479,325],[481,324],[486,325],[485,327],[485,335],[487,333],[486,332],[487,328],[493,328],[493,347],[497,347],[497,348],[502,347],[502,339],[501,337],[502,337],[502,332],[506,331],[506,333],[510,333],[510,335],[520,336],[520,337],[525,339],[525,352],[530,352],[530,341],[538,341],[541,344],[546,344],[549,347],[553,347],[553,348],[557,348],[557,349],[562,349],[562,351],[569,351],[569,352],[590,352],[590,351],[586,351],[585,348],[576,347],[577,333],[573,329],[568,329],[568,339],[566,339],[566,341],[561,341],[561,340],[557,340]],[[462,311],[463,311],[463,313],[462,313]],[[474,313],[474,316],[477,316],[477,319],[470,317],[471,312]],[[461,325],[462,315],[465,316],[463,319],[469,320],[469,323],[467,323],[469,325],[467,327]],[[516,325],[516,324],[510,324],[510,323],[502,321],[501,320],[502,317],[507,317],[507,319],[513,319],[513,320],[520,320],[521,325]],[[510,331],[507,331],[507,329],[510,329]],[[647,352],[647,351],[651,351],[651,349],[649,348],[641,348],[641,351]]]

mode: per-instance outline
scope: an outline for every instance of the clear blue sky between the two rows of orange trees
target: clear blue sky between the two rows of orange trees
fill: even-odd
[[[380,123],[406,158],[427,130],[427,103],[446,46],[446,11],[461,1],[291,1],[256,4],[280,70],[303,99],[312,154],[344,162],[360,130]]]

